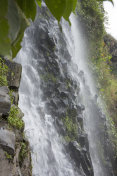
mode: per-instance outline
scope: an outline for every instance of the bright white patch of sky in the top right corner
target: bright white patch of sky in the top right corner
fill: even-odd
[[[117,0],[113,0],[114,6],[111,2],[104,2],[104,9],[107,12],[108,24],[105,24],[106,31],[117,39]]]

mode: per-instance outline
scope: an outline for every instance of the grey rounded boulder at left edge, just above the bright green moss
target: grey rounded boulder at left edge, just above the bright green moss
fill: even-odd
[[[0,114],[7,115],[10,111],[11,101],[6,86],[0,87]]]

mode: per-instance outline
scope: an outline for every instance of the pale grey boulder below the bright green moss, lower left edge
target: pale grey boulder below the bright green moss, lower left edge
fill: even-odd
[[[15,134],[4,127],[0,128],[0,146],[10,155],[14,155]]]

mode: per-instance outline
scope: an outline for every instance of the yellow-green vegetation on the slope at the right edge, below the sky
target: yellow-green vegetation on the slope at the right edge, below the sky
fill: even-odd
[[[100,55],[98,54],[98,57],[92,60],[98,76],[101,97],[105,100],[107,109],[117,124],[117,78],[112,74],[111,64],[109,64],[111,56],[104,43],[100,47]]]

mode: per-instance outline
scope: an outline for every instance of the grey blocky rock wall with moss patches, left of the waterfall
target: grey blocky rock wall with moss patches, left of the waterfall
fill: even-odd
[[[8,85],[0,86],[0,175],[28,176],[31,156],[23,134],[23,113],[17,107],[22,67],[6,59],[1,62],[7,67]]]

